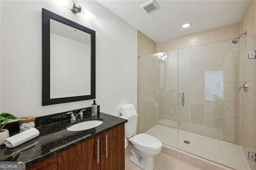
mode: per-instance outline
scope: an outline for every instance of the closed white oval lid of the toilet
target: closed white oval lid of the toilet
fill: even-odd
[[[160,148],[162,146],[162,142],[160,142],[160,140],[145,133],[137,134],[132,140],[136,144],[146,148]]]

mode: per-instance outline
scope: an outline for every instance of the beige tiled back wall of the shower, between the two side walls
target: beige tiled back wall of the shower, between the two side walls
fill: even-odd
[[[236,23],[157,43],[157,52],[179,49],[179,57],[166,60],[174,70],[167,72],[167,67],[166,92],[158,90],[158,124],[176,128],[178,123],[181,130],[240,144],[240,43],[231,42],[239,35],[240,23]],[[206,74],[212,73],[222,74],[223,84],[205,85]],[[220,94],[206,99],[212,97],[212,86],[220,88]],[[184,107],[181,93],[185,93]]]

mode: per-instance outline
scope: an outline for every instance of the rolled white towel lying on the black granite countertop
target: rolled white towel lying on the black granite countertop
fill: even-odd
[[[24,132],[20,132],[19,134],[15,134],[10,138],[5,139],[4,144],[6,144],[6,147],[8,148],[14,148],[37,136],[39,136],[39,131],[36,128],[30,128],[28,130],[25,130]]]

